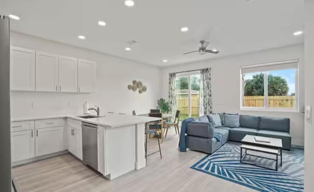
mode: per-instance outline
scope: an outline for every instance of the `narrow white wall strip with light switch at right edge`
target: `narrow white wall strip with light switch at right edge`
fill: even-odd
[[[314,0],[305,3],[305,105],[312,106],[312,121],[305,121],[305,192],[314,192]]]

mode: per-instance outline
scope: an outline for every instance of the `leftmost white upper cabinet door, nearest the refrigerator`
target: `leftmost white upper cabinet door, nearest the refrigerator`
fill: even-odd
[[[11,90],[35,91],[35,51],[11,47]]]

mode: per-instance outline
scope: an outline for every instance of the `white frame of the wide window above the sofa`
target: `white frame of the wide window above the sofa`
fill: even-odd
[[[243,92],[243,76],[242,76],[242,69],[243,68],[256,68],[256,67],[263,67],[267,65],[281,65],[281,64],[288,64],[288,63],[297,63],[297,68],[295,69],[295,107],[294,108],[287,108],[287,107],[268,107],[268,72],[261,72],[264,74],[264,107],[244,107],[244,92]],[[299,60],[288,60],[288,61],[280,61],[280,62],[272,62],[272,63],[265,63],[265,64],[258,64],[258,65],[250,65],[250,66],[243,66],[240,67],[240,110],[241,111],[269,111],[269,112],[300,112],[300,105],[299,105]],[[293,69],[293,68],[291,68]],[[279,71],[279,70],[276,70]]]

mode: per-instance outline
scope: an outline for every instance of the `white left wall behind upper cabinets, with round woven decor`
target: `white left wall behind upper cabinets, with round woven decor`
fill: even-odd
[[[147,113],[157,106],[161,95],[160,68],[16,32],[11,32],[11,45],[97,62],[95,94],[11,91],[12,119],[82,114],[82,103],[86,100],[90,106],[100,106],[102,114],[108,111],[131,114],[132,110]],[[121,48],[121,51],[124,49]],[[133,79],[147,85],[147,92],[139,94],[128,90],[127,86]]]

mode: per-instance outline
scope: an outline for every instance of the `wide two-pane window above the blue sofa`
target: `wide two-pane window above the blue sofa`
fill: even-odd
[[[298,61],[241,68],[241,110],[298,111]]]

